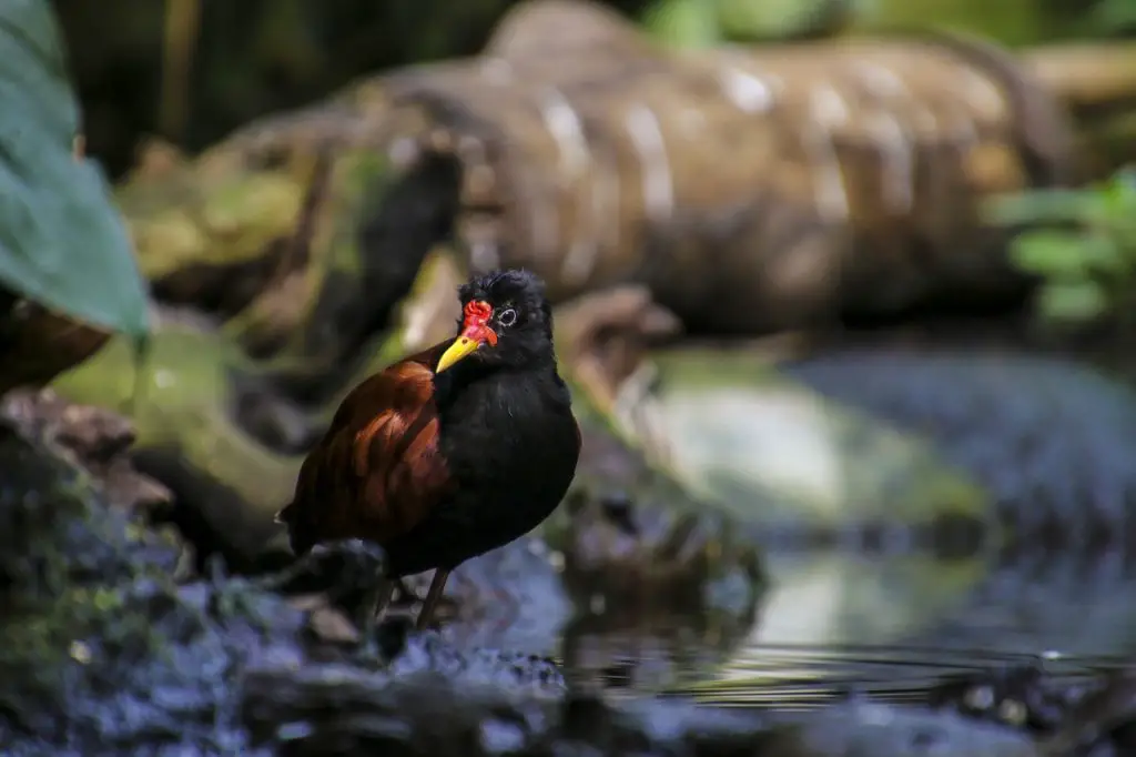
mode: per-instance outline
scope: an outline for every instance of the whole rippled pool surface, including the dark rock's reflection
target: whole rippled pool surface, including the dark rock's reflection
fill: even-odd
[[[1136,651],[1136,602],[1126,601],[1136,596],[1136,559],[1120,550],[996,563],[775,551],[767,567],[770,587],[742,613],[665,596],[605,607],[577,598],[571,609],[561,596],[560,605],[544,599],[561,614],[520,613],[495,626],[459,619],[446,633],[524,641],[608,690],[783,707],[854,690],[921,696],[942,674],[1038,662],[1083,675]]]

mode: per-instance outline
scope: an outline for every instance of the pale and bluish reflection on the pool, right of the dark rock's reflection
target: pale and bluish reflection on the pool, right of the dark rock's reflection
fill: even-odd
[[[1042,663],[1112,667],[1136,649],[1136,560],[1039,552],[978,560],[776,556],[746,643],[690,688],[715,700],[807,704],[850,690],[919,696],[935,676]]]

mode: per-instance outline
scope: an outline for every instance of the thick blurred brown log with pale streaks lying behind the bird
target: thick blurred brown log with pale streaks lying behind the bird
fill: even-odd
[[[426,120],[392,144],[461,167],[473,268],[531,267],[556,300],[646,284],[695,331],[1013,298],[1006,232],[976,209],[1074,175],[1054,98],[961,40],[677,55],[602,8],[543,0],[482,57],[387,88],[395,116]]]

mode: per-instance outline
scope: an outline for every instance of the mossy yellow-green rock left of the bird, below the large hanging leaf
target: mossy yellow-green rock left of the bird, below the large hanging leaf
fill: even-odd
[[[172,517],[201,558],[220,550],[242,567],[278,532],[273,514],[291,497],[299,460],[229,419],[227,375],[239,357],[212,332],[159,323],[130,418],[135,465],[174,493]],[[73,401],[124,407],[135,391],[132,359],[125,340],[112,340],[55,389]]]

